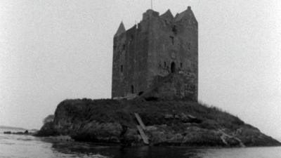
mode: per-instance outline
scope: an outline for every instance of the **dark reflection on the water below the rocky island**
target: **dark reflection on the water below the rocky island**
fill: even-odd
[[[115,158],[147,158],[147,157],[199,157],[202,153],[199,149],[188,149],[187,147],[119,147],[119,146],[100,146],[91,143],[53,143],[53,150],[64,154],[100,154]]]

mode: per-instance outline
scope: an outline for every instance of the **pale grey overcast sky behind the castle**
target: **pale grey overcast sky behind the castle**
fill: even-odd
[[[199,100],[281,138],[281,1],[154,0],[199,23]],[[110,98],[112,41],[150,0],[0,1],[0,125],[37,128],[66,98]]]

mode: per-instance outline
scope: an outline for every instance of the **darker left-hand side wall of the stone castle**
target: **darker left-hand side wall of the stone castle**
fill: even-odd
[[[148,86],[148,29],[141,22],[114,39],[112,98],[139,93]]]

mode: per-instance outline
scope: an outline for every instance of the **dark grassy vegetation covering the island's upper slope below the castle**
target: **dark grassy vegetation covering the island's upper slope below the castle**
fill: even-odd
[[[223,112],[216,107],[208,107],[207,105],[185,100],[141,102],[138,100],[83,99],[65,100],[59,106],[64,107],[67,113],[74,114],[72,117],[79,115],[80,119],[100,122],[122,121],[122,124],[127,124],[128,126],[135,126],[136,122],[133,115],[135,112],[141,115],[144,123],[148,126],[171,124],[173,120],[166,120],[166,114],[190,114],[203,120],[200,126],[206,129],[215,129],[218,126],[237,129],[238,126],[244,124],[238,117],[228,112]]]

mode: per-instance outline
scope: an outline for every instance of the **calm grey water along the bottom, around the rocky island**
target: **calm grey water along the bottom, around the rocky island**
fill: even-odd
[[[281,158],[281,147],[190,148],[129,147],[55,142],[33,136],[0,133],[0,158]]]

